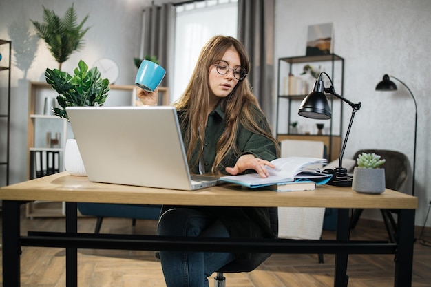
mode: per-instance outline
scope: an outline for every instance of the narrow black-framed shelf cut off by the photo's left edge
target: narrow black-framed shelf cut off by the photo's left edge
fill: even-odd
[[[0,187],[9,184],[9,150],[10,150],[10,63],[12,42],[0,39],[0,147],[3,150],[0,158]],[[6,87],[6,89],[4,89]],[[3,153],[4,152],[4,153]]]

